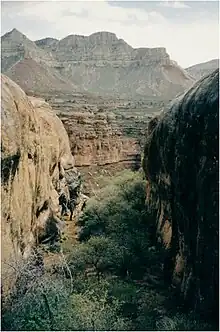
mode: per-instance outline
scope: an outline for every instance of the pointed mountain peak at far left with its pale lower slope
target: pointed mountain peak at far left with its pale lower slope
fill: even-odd
[[[18,30],[1,37],[2,72],[18,83],[25,92],[72,92],[73,82],[55,69],[57,62],[51,52],[37,47]]]

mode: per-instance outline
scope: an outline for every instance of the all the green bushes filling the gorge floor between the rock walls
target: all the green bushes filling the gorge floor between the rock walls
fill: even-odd
[[[141,173],[110,180],[78,223],[79,243],[64,246],[52,270],[38,256],[36,265],[36,254],[16,267],[14,291],[3,298],[3,330],[208,329],[170,305]]]

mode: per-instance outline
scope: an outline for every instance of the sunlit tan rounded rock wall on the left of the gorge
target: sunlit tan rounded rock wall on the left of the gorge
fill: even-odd
[[[62,122],[47,103],[28,98],[2,75],[1,105],[2,271],[7,274],[7,263],[59,236],[59,196],[79,202],[80,175]]]

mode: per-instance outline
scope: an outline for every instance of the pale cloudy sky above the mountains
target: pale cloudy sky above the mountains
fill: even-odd
[[[165,47],[186,68],[219,58],[218,1],[2,1],[1,35],[62,39],[109,31],[137,47]]]

